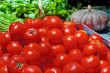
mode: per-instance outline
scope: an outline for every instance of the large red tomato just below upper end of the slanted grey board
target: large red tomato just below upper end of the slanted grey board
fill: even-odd
[[[78,49],[83,49],[85,45],[88,44],[89,36],[88,34],[83,30],[78,30],[74,34],[74,38],[77,40],[76,43],[78,45]]]

